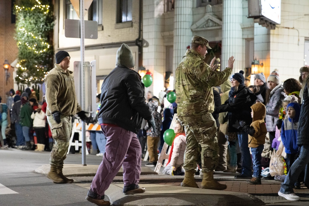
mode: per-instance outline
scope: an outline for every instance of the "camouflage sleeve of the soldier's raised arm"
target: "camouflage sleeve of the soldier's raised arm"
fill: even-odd
[[[214,71],[211,69],[210,65],[201,61],[195,69],[196,77],[207,86],[220,86],[223,84],[231,75],[232,69],[226,68],[223,71]]]

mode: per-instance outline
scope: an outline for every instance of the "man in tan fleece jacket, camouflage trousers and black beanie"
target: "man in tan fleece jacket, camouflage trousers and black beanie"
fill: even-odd
[[[69,53],[59,51],[56,53],[55,67],[45,78],[46,116],[55,142],[50,153],[50,172],[47,177],[54,183],[73,182],[62,173],[72,132],[72,116],[78,114],[83,121],[87,120],[86,112],[77,103],[73,72],[68,70],[69,67]]]

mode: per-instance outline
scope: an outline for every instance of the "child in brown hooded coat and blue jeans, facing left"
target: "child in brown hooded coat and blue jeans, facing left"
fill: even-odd
[[[263,103],[256,103],[251,106],[251,116],[252,123],[246,125],[244,121],[240,121],[239,124],[241,128],[248,132],[248,147],[251,147],[252,162],[253,162],[253,175],[252,179],[248,180],[249,184],[261,184],[261,159],[262,152],[265,144],[266,137],[266,125],[265,125],[265,115],[266,107]]]

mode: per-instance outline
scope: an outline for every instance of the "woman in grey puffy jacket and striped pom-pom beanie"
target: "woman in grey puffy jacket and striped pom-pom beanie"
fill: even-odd
[[[277,69],[267,78],[267,85],[269,90],[266,92],[266,128],[269,132],[270,145],[272,145],[276,133],[276,123],[279,119],[279,110],[282,100],[286,97]]]

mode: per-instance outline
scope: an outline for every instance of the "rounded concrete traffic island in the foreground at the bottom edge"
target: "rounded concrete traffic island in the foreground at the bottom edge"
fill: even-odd
[[[140,184],[140,187],[145,187],[146,192],[124,195],[123,184],[112,184],[105,195],[112,205],[264,205],[263,201],[246,193],[158,184]]]

